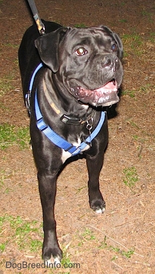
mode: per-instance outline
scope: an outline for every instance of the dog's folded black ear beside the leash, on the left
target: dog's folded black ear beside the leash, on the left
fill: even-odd
[[[60,27],[53,32],[38,37],[34,41],[41,60],[54,73],[59,69],[59,43],[68,29],[67,27]]]

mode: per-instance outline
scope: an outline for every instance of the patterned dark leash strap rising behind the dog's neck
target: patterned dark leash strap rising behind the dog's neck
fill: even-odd
[[[37,25],[37,28],[38,28],[38,31],[39,31],[40,35],[45,34],[45,26],[44,26],[43,22],[40,19],[40,16],[38,14],[38,11],[37,11],[34,0],[27,0],[27,1],[29,3],[29,6],[30,6],[31,11],[33,13],[33,18],[36,22],[36,25]]]

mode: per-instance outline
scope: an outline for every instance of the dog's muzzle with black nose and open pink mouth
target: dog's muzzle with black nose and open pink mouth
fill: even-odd
[[[87,76],[85,77],[87,83],[83,83],[84,86],[89,87],[92,85],[93,87],[95,82],[98,82],[100,86],[99,88],[89,89],[83,87],[83,84],[77,81],[77,84],[71,86],[71,93],[78,101],[96,107],[111,106],[119,102],[118,89],[122,82],[123,70],[117,56],[113,54],[106,54],[102,57],[100,55],[96,56]],[[94,83],[91,78],[94,79]]]

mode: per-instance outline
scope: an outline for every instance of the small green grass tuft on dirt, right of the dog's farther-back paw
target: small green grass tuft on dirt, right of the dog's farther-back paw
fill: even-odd
[[[124,184],[130,188],[135,186],[135,183],[138,181],[138,175],[135,166],[124,168],[123,173],[125,175],[125,178],[123,179]]]

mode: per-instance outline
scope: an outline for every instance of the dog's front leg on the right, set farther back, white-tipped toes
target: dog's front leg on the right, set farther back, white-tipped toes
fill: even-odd
[[[96,213],[103,213],[106,208],[105,201],[102,197],[99,186],[99,175],[103,164],[104,155],[90,156],[87,155],[87,169],[89,175],[88,194],[90,207]]]

